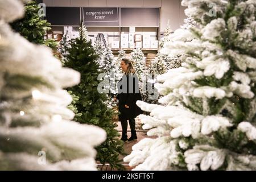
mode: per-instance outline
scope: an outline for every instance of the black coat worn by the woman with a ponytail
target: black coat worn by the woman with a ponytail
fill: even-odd
[[[118,111],[121,113],[119,114],[119,121],[135,118],[137,115],[142,114],[143,111],[136,105],[136,101],[142,100],[137,75],[123,75],[117,85]],[[129,108],[126,108],[125,105],[129,106]]]

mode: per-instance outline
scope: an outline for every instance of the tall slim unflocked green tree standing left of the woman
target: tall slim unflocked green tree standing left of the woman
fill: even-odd
[[[100,74],[99,65],[96,63],[98,55],[92,44],[86,40],[82,28],[80,37],[71,40],[68,53],[65,67],[81,73],[80,84],[68,89],[79,97],[75,107],[82,115],[76,119],[80,123],[96,125],[106,131],[107,139],[97,147],[96,159],[101,163],[109,163],[113,168],[123,169],[118,159],[119,154],[123,154],[123,143],[118,139],[119,134],[115,130],[117,124],[112,121],[113,111],[105,104],[106,94],[99,93],[97,89],[100,84],[97,80]]]

